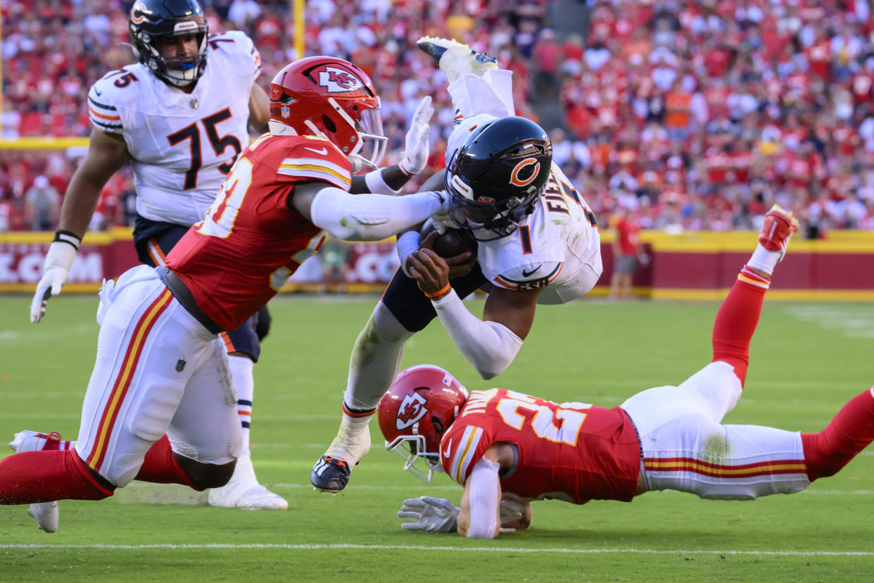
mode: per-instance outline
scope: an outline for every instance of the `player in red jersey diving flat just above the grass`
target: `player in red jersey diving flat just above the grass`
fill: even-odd
[[[494,538],[502,526],[528,528],[532,500],[630,502],[662,489],[751,500],[836,474],[874,441],[874,388],[815,434],[722,424],[744,385],[773,267],[796,228],[779,207],[766,214],[760,245],[716,316],[713,359],[681,385],[604,408],[504,389],[468,396],[438,367],[402,371],[378,406],[386,448],[427,481],[442,469],[464,487],[460,509],[440,498],[406,500],[399,517],[414,522],[403,527]]]

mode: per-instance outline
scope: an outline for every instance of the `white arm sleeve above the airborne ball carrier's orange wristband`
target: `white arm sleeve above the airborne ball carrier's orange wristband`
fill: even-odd
[[[471,314],[454,289],[432,303],[447,334],[482,378],[493,378],[503,372],[522,348],[522,338],[512,330],[501,323],[483,322]]]

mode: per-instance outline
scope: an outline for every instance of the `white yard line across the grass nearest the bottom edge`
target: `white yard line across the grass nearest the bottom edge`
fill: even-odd
[[[570,554],[648,554],[648,555],[692,555],[692,554],[709,554],[709,555],[753,555],[753,556],[790,556],[790,557],[871,557],[874,552],[869,551],[709,551],[706,549],[662,551],[658,549],[531,549],[531,548],[516,548],[511,546],[411,546],[411,545],[260,545],[260,544],[244,544],[244,545],[225,545],[225,544],[209,544],[209,545],[0,545],[0,549],[94,549],[94,550],[111,550],[111,551],[126,551],[126,550],[146,550],[146,549],[169,549],[169,550],[190,550],[190,549],[279,549],[283,551],[322,551],[322,550],[343,550],[343,549],[362,549],[373,551],[472,551],[472,552],[559,552]]]

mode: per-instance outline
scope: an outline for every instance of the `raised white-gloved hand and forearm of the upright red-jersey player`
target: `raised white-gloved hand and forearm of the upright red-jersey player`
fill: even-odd
[[[427,95],[422,98],[413,113],[413,120],[406,132],[406,150],[404,150],[404,156],[401,157],[400,162],[388,168],[373,170],[362,177],[352,177],[350,192],[398,194],[410,178],[425,170],[430,151],[432,115],[434,115],[434,108],[431,107],[431,96]],[[422,191],[428,190],[439,191],[441,189],[422,188]]]

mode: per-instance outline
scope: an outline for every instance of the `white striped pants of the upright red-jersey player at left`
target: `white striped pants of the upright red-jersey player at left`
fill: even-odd
[[[189,314],[152,267],[101,290],[97,357],[76,452],[116,486],[134,479],[163,434],[173,451],[225,464],[240,453],[237,396],[225,346]]]

